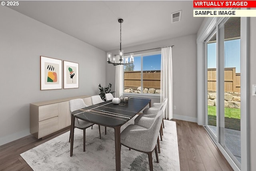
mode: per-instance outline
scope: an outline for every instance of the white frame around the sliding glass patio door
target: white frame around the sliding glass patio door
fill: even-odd
[[[206,125],[205,111],[206,111],[206,101],[207,96],[205,95],[205,85],[207,84],[206,78],[206,61],[205,61],[205,40],[210,36],[214,29],[218,30],[219,24],[227,20],[227,18],[207,18],[204,24],[201,26],[200,31],[197,36],[197,67],[198,67],[198,125]],[[250,145],[249,145],[249,97],[250,97],[250,87],[249,87],[249,18],[241,17],[241,166],[239,167],[230,155],[226,152],[226,150],[220,145],[220,139],[218,138],[214,143],[227,159],[228,163],[234,170],[237,171],[247,171],[250,170]],[[218,31],[217,31],[218,34]],[[218,39],[219,35],[216,35],[216,39]],[[218,54],[218,41],[217,41],[217,56]],[[219,61],[217,61],[218,67]],[[218,74],[220,76],[220,74]],[[219,78],[220,79],[220,78]],[[217,87],[218,90],[223,89],[224,85],[221,87]],[[219,98],[220,100],[220,98]],[[217,98],[218,101],[218,98]],[[217,102],[220,104],[221,101]],[[224,103],[223,103],[224,105]],[[218,110],[218,109],[217,109]],[[208,131],[206,129],[206,131]],[[210,137],[211,134],[209,134]],[[217,137],[218,131],[217,131]],[[214,139],[213,139],[214,140]]]

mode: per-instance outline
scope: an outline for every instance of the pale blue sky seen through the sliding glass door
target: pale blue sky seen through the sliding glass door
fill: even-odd
[[[224,42],[225,47],[225,68],[236,68],[240,73],[240,39]],[[216,68],[216,43],[208,44],[207,48],[208,68]]]

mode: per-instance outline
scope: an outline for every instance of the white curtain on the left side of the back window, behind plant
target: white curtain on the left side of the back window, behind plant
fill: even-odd
[[[124,66],[116,66],[116,86],[115,86],[115,97],[120,97],[123,95],[124,88]]]

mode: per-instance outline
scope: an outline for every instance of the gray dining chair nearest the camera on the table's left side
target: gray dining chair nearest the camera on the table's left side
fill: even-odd
[[[70,116],[72,111],[78,110],[78,109],[82,109],[84,107],[87,107],[87,105],[84,103],[83,99],[72,99],[69,101],[69,110],[70,110]],[[94,125],[94,123],[90,123],[88,121],[84,121],[81,119],[78,119],[75,117],[75,127],[78,129],[83,129],[84,131],[84,151],[85,151],[85,130],[86,128],[90,127]],[[100,125],[99,125],[99,132],[100,132]],[[71,133],[71,131],[70,131]],[[101,135],[100,135],[100,139],[101,139]],[[70,135],[69,135],[69,142],[70,142]]]

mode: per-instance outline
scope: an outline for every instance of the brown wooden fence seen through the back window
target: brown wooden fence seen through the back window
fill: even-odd
[[[143,87],[160,89],[161,72],[157,71],[143,71]],[[140,71],[126,71],[124,72],[124,88],[137,89],[141,86],[141,72]]]

